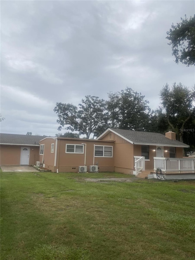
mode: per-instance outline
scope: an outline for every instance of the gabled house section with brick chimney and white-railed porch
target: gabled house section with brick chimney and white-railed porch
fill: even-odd
[[[166,179],[195,179],[194,158],[183,158],[183,148],[189,145],[177,141],[172,131],[163,135],[110,128],[97,140],[114,140],[116,172],[153,178],[152,172],[160,168]]]

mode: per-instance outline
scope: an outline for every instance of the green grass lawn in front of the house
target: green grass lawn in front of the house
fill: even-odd
[[[195,259],[195,181],[1,173],[1,260]]]

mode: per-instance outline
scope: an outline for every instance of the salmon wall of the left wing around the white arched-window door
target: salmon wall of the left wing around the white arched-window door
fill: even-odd
[[[21,155],[20,145],[4,145],[0,148],[0,164],[1,165],[20,165]],[[28,147],[27,145],[23,147]],[[33,165],[39,159],[39,147],[30,146],[29,165]]]

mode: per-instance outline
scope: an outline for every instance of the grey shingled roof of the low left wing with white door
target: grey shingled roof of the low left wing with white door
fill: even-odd
[[[26,134],[0,134],[0,144],[39,146],[39,141],[45,136]]]

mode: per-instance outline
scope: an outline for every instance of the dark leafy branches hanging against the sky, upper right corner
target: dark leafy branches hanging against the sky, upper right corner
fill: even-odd
[[[170,41],[168,45],[172,45],[172,55],[175,56],[176,63],[195,65],[195,15],[190,16],[189,20],[185,15],[180,23],[172,24],[167,35],[166,39]]]

